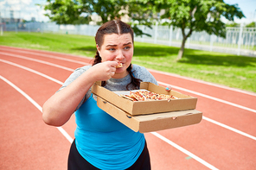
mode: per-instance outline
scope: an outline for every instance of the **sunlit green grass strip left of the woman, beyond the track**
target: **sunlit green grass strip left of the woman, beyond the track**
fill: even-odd
[[[88,55],[95,53],[92,36],[4,32],[0,45],[26,47],[67,54]]]

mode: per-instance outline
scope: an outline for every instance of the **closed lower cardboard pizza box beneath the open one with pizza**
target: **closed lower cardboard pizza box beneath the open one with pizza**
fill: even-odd
[[[163,129],[173,129],[200,123],[202,112],[198,110],[171,111],[149,115],[131,116],[124,110],[98,97],[97,104],[100,109],[105,110],[109,115],[125,124],[135,132],[147,133]]]

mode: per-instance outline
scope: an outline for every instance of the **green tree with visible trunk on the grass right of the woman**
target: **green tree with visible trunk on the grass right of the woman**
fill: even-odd
[[[177,60],[182,59],[187,39],[194,31],[206,31],[209,35],[226,36],[225,23],[234,17],[242,18],[243,13],[237,4],[229,5],[223,0],[158,0],[158,9],[164,9],[161,18],[169,18],[170,24],[182,29],[182,46]]]

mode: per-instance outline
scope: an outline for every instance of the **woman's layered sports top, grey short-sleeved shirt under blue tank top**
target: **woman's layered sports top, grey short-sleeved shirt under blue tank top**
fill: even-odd
[[[76,69],[61,89],[90,67],[92,66]],[[143,66],[132,65],[131,72],[137,79],[157,85],[157,80]],[[125,91],[126,85],[130,82],[131,76],[128,74],[122,79],[107,80],[105,88],[110,91]],[[74,136],[78,152],[86,161],[99,169],[115,170],[131,167],[144,149],[144,134],[134,132],[99,109],[96,98],[91,89],[87,91],[74,113],[77,124]]]

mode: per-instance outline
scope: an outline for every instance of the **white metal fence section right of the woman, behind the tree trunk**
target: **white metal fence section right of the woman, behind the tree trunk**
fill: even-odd
[[[136,41],[181,47],[182,30],[172,26],[154,26],[153,29],[140,26],[146,35],[136,37]],[[186,30],[189,31],[189,30]],[[227,54],[256,56],[256,27],[227,28],[226,38],[208,35],[206,32],[194,32],[186,41],[185,47]]]

